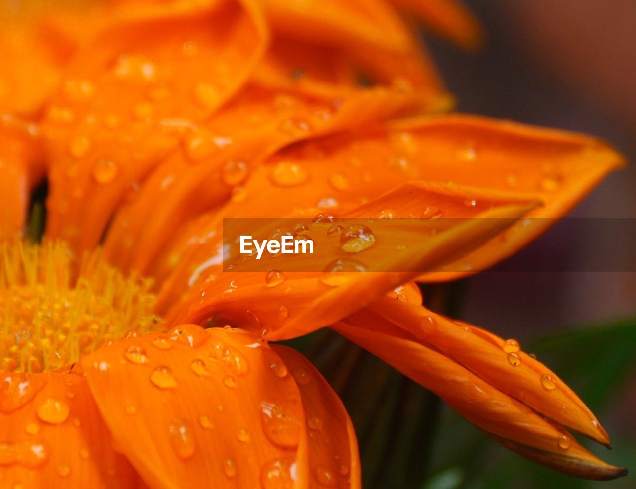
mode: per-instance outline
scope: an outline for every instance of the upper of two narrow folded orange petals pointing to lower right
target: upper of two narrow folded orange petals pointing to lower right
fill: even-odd
[[[378,317],[391,322],[423,344],[438,348],[537,413],[609,445],[607,433],[583,401],[553,371],[523,353],[515,340],[504,341],[488,331],[453,322],[422,306],[384,298],[354,317],[355,324],[365,324]]]

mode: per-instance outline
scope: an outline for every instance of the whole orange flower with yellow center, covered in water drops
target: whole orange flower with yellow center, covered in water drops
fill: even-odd
[[[555,373],[426,310],[412,282],[507,258],[622,158],[585,135],[439,115],[452,98],[392,3],[109,2],[3,34],[3,483],[358,487],[342,403],[267,343],[321,327],[525,457],[625,473],[565,431],[609,444]],[[394,3],[480,41],[451,1]],[[26,245],[11,236],[43,165],[45,242]],[[307,263],[323,272],[223,270],[224,217],[270,217],[271,234],[316,215],[303,232],[317,242],[333,216],[420,219],[376,230],[356,255],[368,273],[320,253]],[[200,327],[211,319],[234,328]]]

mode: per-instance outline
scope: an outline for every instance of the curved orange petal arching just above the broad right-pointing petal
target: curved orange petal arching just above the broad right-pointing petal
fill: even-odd
[[[106,254],[122,269],[152,273],[156,254],[172,238],[172,223],[228,202],[232,192],[233,200],[240,200],[241,185],[265,156],[300,139],[413,113],[434,100],[381,87],[342,90],[305,83],[281,90],[248,85],[209,122],[189,129],[184,148],[144,181],[134,201],[114,219]]]

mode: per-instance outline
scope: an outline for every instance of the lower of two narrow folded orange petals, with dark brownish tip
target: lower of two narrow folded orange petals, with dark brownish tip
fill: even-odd
[[[559,425],[390,322],[379,317],[347,319],[333,328],[438,394],[495,441],[534,462],[588,479],[626,473],[590,453]]]

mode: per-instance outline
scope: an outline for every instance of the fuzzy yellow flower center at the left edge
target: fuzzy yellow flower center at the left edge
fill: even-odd
[[[107,340],[163,329],[152,282],[62,242],[0,244],[0,371],[64,368]]]

